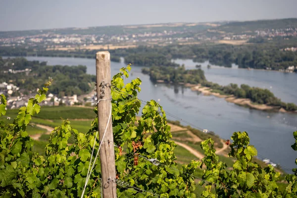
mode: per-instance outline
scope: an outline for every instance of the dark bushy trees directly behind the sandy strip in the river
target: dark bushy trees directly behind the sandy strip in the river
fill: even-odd
[[[252,102],[258,104],[267,104],[272,106],[280,106],[288,111],[296,111],[297,105],[294,103],[282,102],[274,96],[268,89],[261,89],[257,87],[249,87],[248,85],[242,84],[238,87],[237,84],[231,83],[227,86],[221,86],[217,83],[203,81],[201,83],[205,87],[209,87],[213,92],[217,92],[223,95],[234,95],[238,98],[250,99]]]

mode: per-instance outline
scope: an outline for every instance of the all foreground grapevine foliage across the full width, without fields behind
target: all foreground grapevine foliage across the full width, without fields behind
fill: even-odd
[[[297,176],[288,175],[289,185],[280,192],[276,184],[280,176],[272,166],[261,168],[252,161],[257,151],[249,145],[246,132],[232,136],[230,156],[237,160],[233,170],[219,161],[213,148],[214,142],[207,139],[201,143],[205,157],[192,161],[178,169],[174,162],[174,148],[170,127],[163,108],[154,100],[146,103],[142,116],[136,119],[141,101],[140,79],[124,84],[131,67],[122,68],[112,79],[112,126],[115,147],[116,177],[128,186],[117,185],[118,197],[196,197],[194,194],[195,170],[205,167],[200,185],[205,185],[201,197],[294,197],[297,196]],[[26,132],[33,115],[40,112],[39,103],[46,99],[48,86],[40,89],[35,98],[29,99],[27,107],[19,109],[12,124],[0,122],[0,196],[1,197],[79,197],[87,177],[92,147],[96,141],[98,119],[91,129],[83,134],[70,126],[69,120],[52,131],[45,157],[33,152],[33,140]],[[1,104],[6,103],[3,95]],[[5,108],[4,108],[5,109]],[[95,112],[97,109],[95,108]],[[5,111],[1,111],[5,115]],[[69,138],[75,141],[69,144]],[[297,132],[294,132],[297,141]],[[297,142],[292,146],[296,149]],[[125,148],[125,150],[123,150]],[[124,151],[124,152],[123,152]],[[95,153],[97,151],[95,150]],[[134,154],[139,153],[139,163],[134,165]],[[155,166],[145,158],[155,158],[161,164]],[[95,162],[85,197],[100,197],[100,160]],[[211,191],[214,186],[215,192]],[[139,193],[134,188],[143,190]]]

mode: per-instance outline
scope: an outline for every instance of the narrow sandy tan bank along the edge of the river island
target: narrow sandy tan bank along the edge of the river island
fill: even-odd
[[[205,96],[213,95],[218,98],[225,98],[227,102],[232,102],[241,106],[247,106],[249,108],[254,108],[257,110],[276,111],[276,112],[278,111],[282,113],[288,113],[288,112],[295,113],[294,111],[286,111],[284,108],[280,108],[278,106],[271,106],[267,104],[255,104],[250,99],[240,99],[240,98],[234,97],[233,95],[221,95],[219,93],[213,92],[213,90],[208,87],[201,86],[200,84],[193,85],[193,84],[187,83],[185,84],[185,87],[191,88],[192,91],[199,91]]]

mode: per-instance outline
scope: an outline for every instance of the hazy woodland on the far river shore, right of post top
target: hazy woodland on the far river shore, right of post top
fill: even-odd
[[[297,66],[297,53],[293,51],[280,51],[280,49],[292,47],[287,43],[263,43],[246,46],[232,45],[193,45],[193,46],[165,46],[165,47],[140,47],[136,49],[114,50],[113,53],[121,54],[126,62],[152,66],[171,65],[171,59],[189,58],[195,62],[209,60],[210,63],[231,67],[232,63],[240,68],[255,68],[272,70],[287,69],[289,66]],[[127,55],[129,54],[129,55]],[[163,59],[162,61],[158,60]],[[157,60],[156,60],[157,59]],[[165,61],[165,63],[164,63]]]

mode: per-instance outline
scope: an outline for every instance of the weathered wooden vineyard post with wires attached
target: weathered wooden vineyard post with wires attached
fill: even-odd
[[[112,118],[108,122],[111,111],[111,76],[110,76],[110,53],[99,51],[96,53],[96,80],[98,102],[98,130],[99,140],[102,142],[100,148],[100,162],[102,175],[103,198],[116,198],[115,182],[115,158],[112,133]],[[103,93],[104,92],[104,93]],[[105,99],[105,100],[100,100]],[[111,116],[111,115],[110,115]],[[108,125],[106,126],[108,122]],[[106,129],[104,139],[103,133]]]

